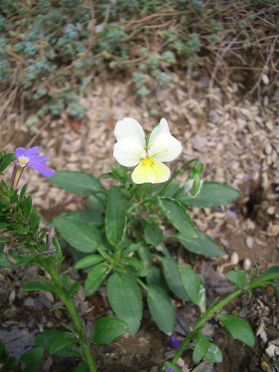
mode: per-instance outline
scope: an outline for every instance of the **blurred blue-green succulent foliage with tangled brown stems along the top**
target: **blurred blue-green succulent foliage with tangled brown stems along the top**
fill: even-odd
[[[147,96],[154,87],[171,84],[174,64],[204,65],[204,56],[212,53],[208,45],[220,45],[228,22],[234,30],[227,41],[243,30],[244,49],[261,47],[253,32],[259,30],[258,9],[264,6],[269,14],[266,4],[278,1],[229,0],[230,16],[224,16],[213,0],[93,1],[94,9],[90,0],[0,0],[0,79],[12,81],[17,71],[25,99],[49,97],[39,117],[66,110],[80,118],[85,109],[73,103],[81,88],[86,94],[94,73],[125,70],[135,92]],[[276,12],[274,7],[272,15]],[[260,32],[275,35],[272,22],[273,16]]]

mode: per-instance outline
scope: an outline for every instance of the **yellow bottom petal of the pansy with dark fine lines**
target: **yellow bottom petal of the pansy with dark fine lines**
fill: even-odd
[[[135,167],[131,177],[134,183],[161,183],[169,179],[170,170],[161,161],[145,158]]]

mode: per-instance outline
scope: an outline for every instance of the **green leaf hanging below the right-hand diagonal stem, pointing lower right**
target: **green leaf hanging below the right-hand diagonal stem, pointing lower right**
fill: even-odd
[[[224,314],[219,314],[218,318],[221,320],[224,327],[227,328],[234,340],[238,339],[248,346],[254,346],[254,333],[250,325],[244,319],[236,317],[235,315]]]

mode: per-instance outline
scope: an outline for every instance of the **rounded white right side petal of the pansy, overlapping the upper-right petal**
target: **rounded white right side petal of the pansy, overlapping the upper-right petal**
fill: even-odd
[[[159,161],[172,161],[181,153],[182,145],[170,134],[162,133],[147,150],[147,156]]]

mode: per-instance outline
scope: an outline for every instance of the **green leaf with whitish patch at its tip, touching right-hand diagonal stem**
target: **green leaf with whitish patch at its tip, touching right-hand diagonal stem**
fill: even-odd
[[[205,287],[201,278],[190,267],[178,264],[178,272],[183,288],[190,300],[197,305],[202,312],[205,312]]]

